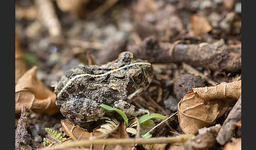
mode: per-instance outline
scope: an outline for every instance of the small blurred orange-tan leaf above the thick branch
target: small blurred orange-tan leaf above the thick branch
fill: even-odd
[[[212,30],[208,20],[202,16],[192,15],[191,24],[193,33],[199,36]]]

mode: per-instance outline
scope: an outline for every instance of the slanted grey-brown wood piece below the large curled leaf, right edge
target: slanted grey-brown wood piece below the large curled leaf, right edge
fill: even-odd
[[[227,119],[225,119],[216,140],[220,145],[227,143],[232,137],[232,133],[235,130],[235,125],[232,122],[238,122],[241,120],[241,104],[242,98],[240,97],[233,109],[230,111]]]

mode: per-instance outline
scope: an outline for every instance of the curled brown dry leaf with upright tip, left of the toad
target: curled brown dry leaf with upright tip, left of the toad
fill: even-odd
[[[27,70],[18,79],[15,86],[15,113],[20,113],[22,105],[26,110],[37,113],[54,114],[60,111],[55,105],[56,95],[47,89],[41,80],[36,78],[37,67]]]

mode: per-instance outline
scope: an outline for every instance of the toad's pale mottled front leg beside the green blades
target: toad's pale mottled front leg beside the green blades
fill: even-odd
[[[136,106],[127,103],[124,100],[119,100],[114,102],[114,108],[120,109],[125,114],[131,115],[131,116],[137,116],[143,113],[150,114],[149,110],[146,109],[137,109]]]

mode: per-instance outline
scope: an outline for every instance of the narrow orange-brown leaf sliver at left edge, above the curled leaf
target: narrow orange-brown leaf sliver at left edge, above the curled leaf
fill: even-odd
[[[15,27],[15,84],[17,83],[17,80],[21,78],[24,72],[25,72],[25,64],[24,64],[21,48],[19,47],[17,30]]]

